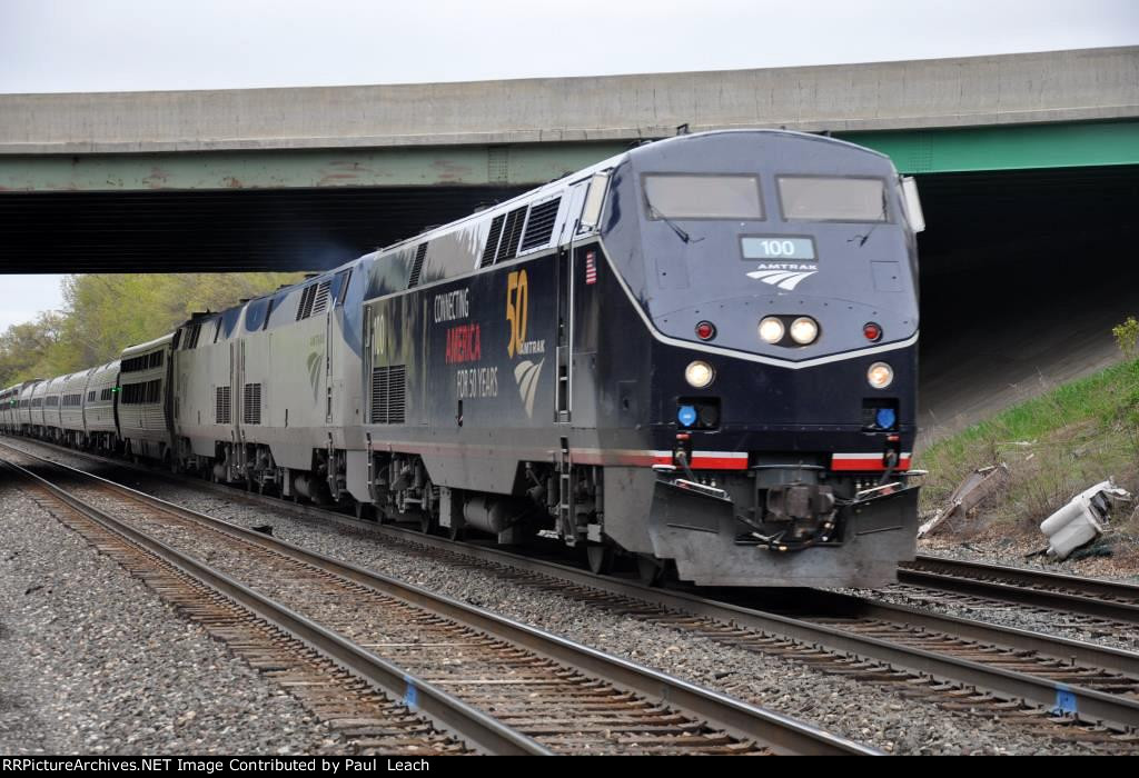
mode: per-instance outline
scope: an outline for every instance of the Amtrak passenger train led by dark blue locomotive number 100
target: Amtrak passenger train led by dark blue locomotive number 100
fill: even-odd
[[[920,229],[874,151],[682,135],[8,388],[0,425],[598,570],[877,586],[915,552]]]

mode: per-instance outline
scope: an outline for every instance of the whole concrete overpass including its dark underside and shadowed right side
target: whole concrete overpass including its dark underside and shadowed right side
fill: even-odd
[[[827,132],[918,176],[927,423],[1109,361],[1139,312],[1139,47],[0,96],[0,273],[316,270],[685,125]]]

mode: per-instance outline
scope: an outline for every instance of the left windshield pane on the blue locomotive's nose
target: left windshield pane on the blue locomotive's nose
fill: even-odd
[[[760,180],[754,175],[656,175],[644,179],[645,206],[664,218],[763,218]]]

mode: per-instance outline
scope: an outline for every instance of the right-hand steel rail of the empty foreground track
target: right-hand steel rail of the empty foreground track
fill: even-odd
[[[0,446],[13,448],[3,442],[0,442]],[[323,554],[308,551],[286,540],[280,540],[262,532],[256,532],[221,519],[215,519],[180,505],[167,503],[166,500],[147,495],[137,489],[132,489],[121,483],[115,483],[114,481],[109,481],[92,473],[87,473],[82,470],[77,470],[58,462],[44,460],[43,457],[28,454],[22,449],[16,448],[14,450],[24,456],[40,460],[54,467],[68,472],[69,474],[90,479],[104,487],[115,489],[133,499],[150,505],[151,507],[171,512],[191,521],[205,523],[223,532],[236,536],[241,540],[256,544],[277,553],[282,553],[295,560],[317,566],[326,572],[334,573],[383,594],[399,597],[404,602],[418,605],[437,613],[439,615],[452,619],[483,632],[494,635],[495,637],[519,645],[554,661],[579,668],[583,672],[596,678],[600,678],[614,686],[636,692],[650,698],[661,700],[663,703],[697,717],[706,721],[710,726],[723,729],[735,737],[763,743],[770,746],[776,753],[816,755],[878,755],[882,753],[876,748],[834,735],[833,733],[828,733],[812,725],[797,721],[790,717],[735,700],[719,692],[705,689],[666,673],[644,668],[628,660],[612,656],[595,648],[590,648],[589,646],[546,632],[544,630],[500,616],[484,609],[478,609],[443,595],[433,594],[421,587],[404,584],[403,581],[399,581],[382,573],[341,562]],[[35,477],[34,473],[32,475]],[[39,480],[43,481],[43,479]],[[58,487],[55,487],[54,491],[56,489],[58,489]],[[71,499],[82,504],[82,502],[77,500],[77,498],[71,497]],[[98,508],[92,510],[98,511]],[[112,521],[115,520],[112,519]],[[133,532],[133,530],[131,531]],[[162,546],[162,544],[158,544],[157,541],[153,543]],[[166,547],[163,546],[163,548]],[[172,549],[169,551],[173,554],[178,554],[178,552],[173,552]],[[178,555],[181,556],[180,554]],[[196,562],[194,564],[195,566],[199,566]],[[214,574],[224,578],[222,573]],[[259,598],[261,597],[240,584],[236,584],[233,581],[231,582],[237,587],[240,587],[240,589],[247,591],[249,595]],[[303,616],[298,616],[296,614],[293,615],[296,619],[304,620]],[[309,623],[316,629],[325,631],[334,638],[336,637],[335,635],[327,632],[327,630],[322,630],[319,626],[312,624],[311,622]],[[347,647],[355,648],[352,644],[349,644],[343,639],[339,639],[339,642],[342,644],[346,644]],[[355,651],[361,654],[367,654],[379,662],[384,662],[384,660],[380,660],[363,649],[355,648]],[[401,672],[398,668],[395,668],[395,670]],[[402,679],[403,676],[400,676],[400,678]],[[416,680],[415,684],[416,689],[419,689],[420,693],[425,687],[433,688],[429,687],[429,684],[424,681]],[[437,689],[435,689],[435,692],[440,695],[445,695],[445,693]],[[453,727],[451,727],[451,730],[457,731]],[[519,736],[526,737],[524,735]],[[468,739],[469,742],[469,738],[465,739]],[[538,744],[535,743],[535,745]],[[539,745],[538,747],[541,748],[542,746]]]

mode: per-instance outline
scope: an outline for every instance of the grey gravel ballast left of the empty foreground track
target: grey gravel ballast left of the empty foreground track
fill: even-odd
[[[0,549],[0,753],[335,751],[282,687],[8,480]]]

